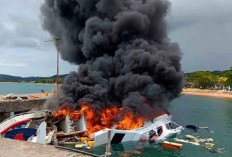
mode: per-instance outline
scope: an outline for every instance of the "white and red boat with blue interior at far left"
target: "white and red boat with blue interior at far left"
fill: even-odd
[[[0,123],[0,137],[49,144],[55,130],[47,133],[47,115],[49,111],[34,111],[10,117]]]

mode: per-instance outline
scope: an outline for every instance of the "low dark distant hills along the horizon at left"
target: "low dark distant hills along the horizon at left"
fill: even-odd
[[[60,75],[59,77],[64,79],[65,76],[68,74]],[[11,75],[5,75],[0,74],[0,80],[2,81],[36,81],[36,80],[42,80],[42,79],[53,79],[56,78],[56,75],[50,76],[50,77],[20,77],[20,76],[11,76]]]

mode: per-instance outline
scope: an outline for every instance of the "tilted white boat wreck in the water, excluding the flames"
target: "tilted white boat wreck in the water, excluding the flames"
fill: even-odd
[[[164,113],[153,121],[145,122],[143,127],[134,130],[105,129],[95,133],[94,147],[108,143],[108,131],[111,131],[111,144],[127,141],[149,141],[157,142],[174,137],[184,129],[171,120],[172,116]]]

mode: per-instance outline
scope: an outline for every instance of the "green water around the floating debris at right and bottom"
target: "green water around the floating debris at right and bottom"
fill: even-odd
[[[165,150],[157,144],[142,144],[140,142],[127,142],[112,146],[113,157],[232,157],[232,101],[211,97],[181,96],[170,105],[173,120],[182,126],[193,124],[209,126],[214,131],[199,130],[201,138],[213,138],[215,149],[224,148],[222,154],[212,154],[208,149],[191,144],[184,144],[183,150]],[[196,135],[193,131],[185,129],[184,135]],[[141,154],[135,151],[141,149]],[[90,152],[104,154],[105,146],[96,147]],[[129,152],[129,155],[125,152]],[[130,154],[132,153],[132,154]]]

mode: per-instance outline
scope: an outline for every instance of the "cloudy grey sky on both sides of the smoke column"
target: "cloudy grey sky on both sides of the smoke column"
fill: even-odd
[[[182,51],[184,72],[226,70],[232,66],[232,1],[170,0],[168,34]],[[56,49],[41,27],[43,0],[0,0],[0,73],[51,76]],[[60,73],[77,71],[60,62]]]

